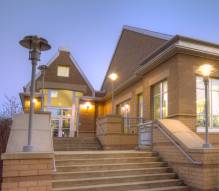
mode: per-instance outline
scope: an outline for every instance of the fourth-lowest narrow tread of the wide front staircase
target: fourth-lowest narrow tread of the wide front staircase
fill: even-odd
[[[120,171],[135,171],[135,170],[159,170],[159,169],[169,169],[169,167],[148,167],[148,168],[131,168],[131,169],[113,169],[113,170],[91,170],[91,171],[85,171],[85,172],[55,172],[55,174],[76,174],[76,173],[96,173],[96,172],[100,172],[100,173],[104,173],[104,172],[120,172]]]

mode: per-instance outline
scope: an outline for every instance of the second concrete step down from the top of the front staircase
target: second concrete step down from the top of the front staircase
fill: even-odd
[[[110,163],[138,163],[138,162],[156,162],[158,157],[122,157],[122,158],[98,158],[98,159],[63,159],[56,160],[56,165],[74,165],[74,164],[110,164]]]

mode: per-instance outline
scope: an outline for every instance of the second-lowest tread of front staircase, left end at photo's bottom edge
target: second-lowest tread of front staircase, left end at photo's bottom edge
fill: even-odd
[[[53,188],[53,191],[59,191],[65,189],[85,189],[85,188],[101,188],[101,187],[116,187],[116,186],[129,186],[129,185],[141,185],[141,184],[153,184],[153,183],[167,183],[167,182],[181,182],[179,179],[165,179],[165,180],[153,180],[153,181],[139,181],[139,182],[128,182],[128,183],[111,183],[111,184],[98,184],[98,185],[88,185],[88,186],[71,186],[65,188]]]

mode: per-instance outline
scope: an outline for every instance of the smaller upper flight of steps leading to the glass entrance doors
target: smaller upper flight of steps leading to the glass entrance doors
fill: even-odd
[[[88,151],[101,149],[96,137],[53,138],[53,145],[55,151]]]

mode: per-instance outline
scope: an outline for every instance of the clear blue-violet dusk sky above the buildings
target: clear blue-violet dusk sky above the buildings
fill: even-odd
[[[0,0],[0,104],[30,80],[25,35],[46,38],[46,64],[68,48],[100,89],[123,25],[219,43],[219,0]]]

